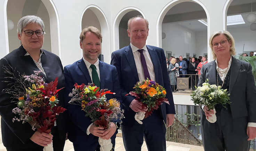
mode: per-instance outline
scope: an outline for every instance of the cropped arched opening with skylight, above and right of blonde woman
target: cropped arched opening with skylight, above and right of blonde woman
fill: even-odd
[[[250,52],[256,54],[256,20],[254,23],[247,20],[251,13],[256,16],[256,0],[229,0],[225,6],[224,29],[234,37],[237,55],[246,53],[249,56]],[[255,29],[252,28],[252,24]]]

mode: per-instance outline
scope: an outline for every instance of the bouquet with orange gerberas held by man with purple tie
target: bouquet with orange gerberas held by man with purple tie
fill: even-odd
[[[142,124],[141,120],[151,115],[153,110],[158,109],[159,105],[161,105],[163,102],[169,104],[169,101],[167,101],[167,98],[165,98],[165,88],[160,86],[155,81],[151,81],[147,78],[147,80],[137,82],[134,89],[135,91],[130,91],[127,95],[135,96],[136,100],[143,103],[142,107],[147,108],[145,113],[137,112],[135,114],[135,120],[139,124]]]

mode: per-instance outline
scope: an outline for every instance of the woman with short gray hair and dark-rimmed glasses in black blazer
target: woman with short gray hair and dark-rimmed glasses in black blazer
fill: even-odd
[[[7,151],[42,151],[44,146],[53,142],[54,151],[63,151],[66,136],[66,113],[57,116],[51,135],[33,131],[29,123],[13,122],[15,114],[12,110],[17,107],[10,94],[5,89],[10,88],[7,77],[10,75],[2,68],[18,74],[31,75],[41,71],[40,75],[49,83],[58,77],[57,89],[65,86],[63,66],[59,57],[43,50],[45,25],[40,17],[25,16],[18,21],[18,39],[21,46],[0,60],[0,115],[2,142]],[[19,72],[19,73],[18,73]],[[64,106],[63,90],[58,92],[59,105]]]

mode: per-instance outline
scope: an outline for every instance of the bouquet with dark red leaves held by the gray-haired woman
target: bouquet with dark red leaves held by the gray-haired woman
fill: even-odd
[[[54,126],[56,116],[63,113],[66,109],[58,106],[57,90],[58,77],[50,83],[45,83],[39,76],[41,71],[34,71],[34,74],[20,76],[20,79],[14,76],[7,68],[6,72],[12,74],[16,82],[11,88],[5,89],[7,93],[18,99],[18,107],[13,109],[13,113],[19,117],[14,117],[13,122],[28,122],[32,129],[51,134],[51,128]],[[10,81],[5,81],[10,82]],[[53,144],[48,144],[44,151],[53,151]]]

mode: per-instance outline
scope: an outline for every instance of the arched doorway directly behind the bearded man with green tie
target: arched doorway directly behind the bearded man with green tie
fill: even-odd
[[[110,35],[109,25],[104,12],[95,5],[87,6],[83,11],[81,18],[81,30],[86,26],[94,26],[101,31],[102,46],[101,54],[104,56],[104,62],[110,63]]]

